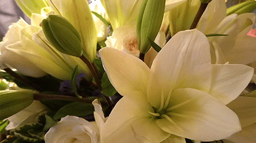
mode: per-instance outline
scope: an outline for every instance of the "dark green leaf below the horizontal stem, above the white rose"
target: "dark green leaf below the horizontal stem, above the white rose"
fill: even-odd
[[[53,119],[59,120],[61,117],[65,117],[67,115],[86,116],[93,114],[93,112],[94,107],[92,104],[83,102],[73,102],[60,108],[53,116]]]

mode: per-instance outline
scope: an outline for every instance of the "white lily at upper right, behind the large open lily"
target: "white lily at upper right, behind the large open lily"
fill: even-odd
[[[204,34],[228,34],[228,36],[208,37],[212,63],[224,64],[228,61],[248,64],[256,61],[256,40],[247,35],[254,22],[253,13],[226,16],[223,0],[209,3],[198,22],[197,29]]]

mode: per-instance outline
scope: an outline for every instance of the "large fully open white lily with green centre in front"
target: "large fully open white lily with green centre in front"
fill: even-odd
[[[241,130],[236,113],[225,104],[239,96],[253,69],[211,65],[209,43],[200,31],[176,34],[151,69],[109,47],[100,50],[100,57],[124,96],[103,126],[102,142],[212,141]]]

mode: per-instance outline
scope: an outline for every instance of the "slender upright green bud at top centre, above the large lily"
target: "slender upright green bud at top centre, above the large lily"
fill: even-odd
[[[137,19],[137,43],[140,53],[145,54],[155,40],[162,24],[165,0],[144,0]]]

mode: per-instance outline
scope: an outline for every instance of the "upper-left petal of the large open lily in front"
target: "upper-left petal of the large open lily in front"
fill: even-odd
[[[105,71],[110,82],[122,96],[131,91],[146,93],[150,68],[143,61],[111,47],[104,47],[99,54],[103,66],[108,67]]]

